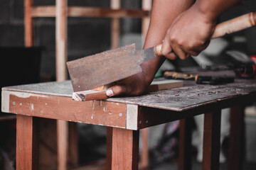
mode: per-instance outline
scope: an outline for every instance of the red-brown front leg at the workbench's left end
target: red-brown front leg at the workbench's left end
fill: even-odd
[[[17,115],[16,169],[38,169],[38,118]]]

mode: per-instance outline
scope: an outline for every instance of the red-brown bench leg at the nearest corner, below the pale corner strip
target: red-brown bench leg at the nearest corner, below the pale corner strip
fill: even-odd
[[[139,161],[139,130],[113,128],[112,170],[137,170]]]

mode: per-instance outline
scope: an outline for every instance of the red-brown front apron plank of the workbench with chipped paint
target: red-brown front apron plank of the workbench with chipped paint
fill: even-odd
[[[126,104],[107,101],[77,102],[60,96],[9,96],[9,113],[126,128]]]

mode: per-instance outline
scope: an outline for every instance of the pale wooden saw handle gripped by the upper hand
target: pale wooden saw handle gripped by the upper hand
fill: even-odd
[[[247,13],[237,18],[230,19],[223,23],[219,23],[214,30],[214,33],[210,39],[220,38],[223,35],[235,33],[245,28],[250,28],[256,25],[256,12]],[[162,44],[154,47],[154,52],[157,56],[161,54]]]

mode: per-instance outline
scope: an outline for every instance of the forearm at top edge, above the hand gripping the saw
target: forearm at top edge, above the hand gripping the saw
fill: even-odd
[[[238,4],[240,0],[198,0],[193,5],[202,13],[209,21],[216,21],[218,16],[229,8]]]

